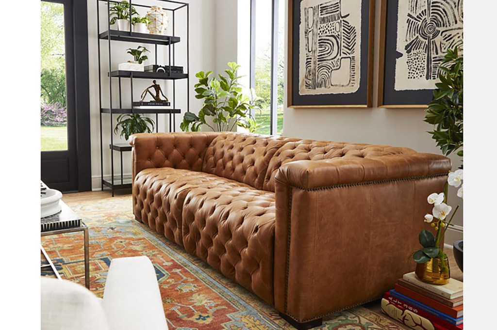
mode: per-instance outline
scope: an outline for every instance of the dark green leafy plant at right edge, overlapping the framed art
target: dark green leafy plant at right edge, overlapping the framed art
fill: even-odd
[[[447,50],[438,69],[440,82],[435,84],[424,121],[434,125],[429,133],[447,156],[463,147],[463,56],[457,47]],[[462,157],[463,150],[457,155]]]

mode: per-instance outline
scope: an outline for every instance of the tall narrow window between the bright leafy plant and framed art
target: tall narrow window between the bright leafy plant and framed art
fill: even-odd
[[[251,0],[250,87],[260,134],[283,133],[284,0]]]

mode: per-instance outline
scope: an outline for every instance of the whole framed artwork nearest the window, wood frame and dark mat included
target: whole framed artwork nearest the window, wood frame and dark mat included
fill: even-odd
[[[375,0],[288,0],[289,108],[372,105]]]

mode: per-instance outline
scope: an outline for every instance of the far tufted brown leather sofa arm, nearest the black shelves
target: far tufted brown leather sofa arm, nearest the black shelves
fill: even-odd
[[[131,135],[133,180],[146,168],[201,171],[204,155],[219,132],[140,133]]]

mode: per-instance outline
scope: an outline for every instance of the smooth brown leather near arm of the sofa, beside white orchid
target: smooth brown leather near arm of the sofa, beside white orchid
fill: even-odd
[[[414,150],[282,165],[275,307],[305,323],[381,297],[414,270],[417,233],[430,228],[426,197],[442,190],[450,168],[450,159]]]

